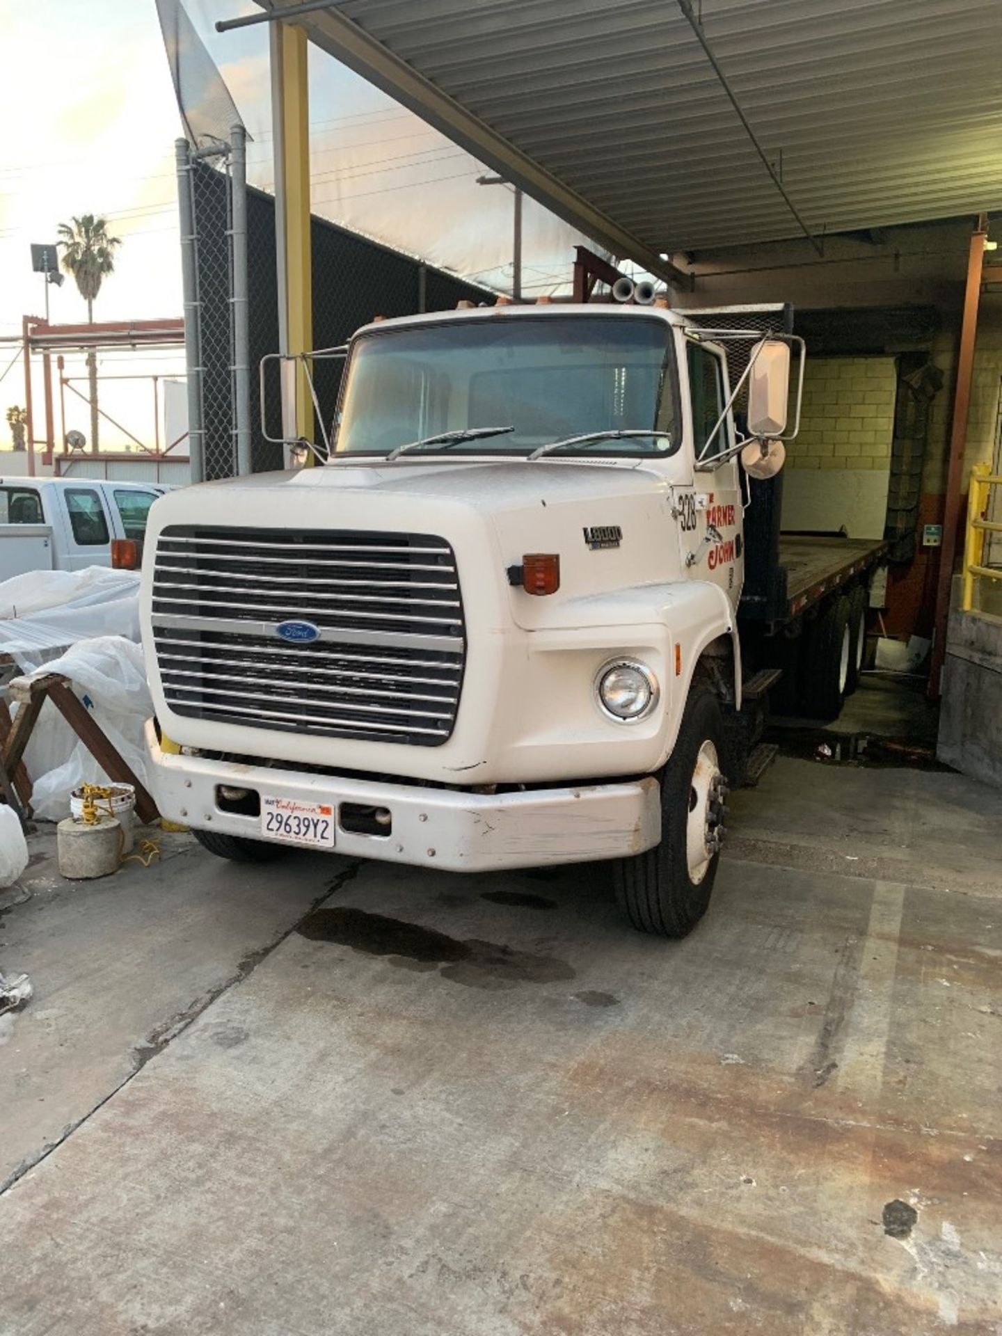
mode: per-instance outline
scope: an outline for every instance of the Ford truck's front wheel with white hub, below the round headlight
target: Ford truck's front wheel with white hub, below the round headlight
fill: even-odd
[[[616,899],[633,927],[685,937],[709,904],[727,814],[720,705],[697,687],[661,780],[661,843],[616,864]]]

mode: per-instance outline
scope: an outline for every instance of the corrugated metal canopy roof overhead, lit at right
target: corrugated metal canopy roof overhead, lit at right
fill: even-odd
[[[677,0],[298,21],[620,255],[800,235]],[[1002,208],[1002,0],[703,0],[701,25],[812,232]]]

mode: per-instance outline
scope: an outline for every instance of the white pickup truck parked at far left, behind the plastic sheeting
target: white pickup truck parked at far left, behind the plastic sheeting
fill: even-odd
[[[163,490],[140,482],[0,477],[0,580],[29,570],[138,568],[150,506]]]

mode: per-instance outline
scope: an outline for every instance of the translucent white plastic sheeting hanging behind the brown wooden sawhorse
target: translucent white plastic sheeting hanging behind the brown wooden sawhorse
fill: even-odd
[[[108,741],[146,784],[143,725],[154,705],[142,648],[122,636],[81,640],[39,668],[40,675],[51,672],[69,679]],[[33,784],[32,810],[41,820],[59,822],[68,816],[69,795],[79,784],[107,784],[110,780],[51,704],[39,715],[24,764]]]

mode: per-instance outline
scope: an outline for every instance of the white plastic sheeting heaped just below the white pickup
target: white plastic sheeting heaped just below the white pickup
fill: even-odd
[[[0,653],[21,672],[94,636],[139,641],[138,570],[31,570],[0,584]]]

